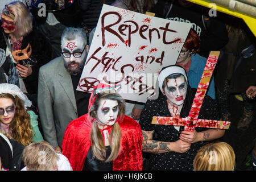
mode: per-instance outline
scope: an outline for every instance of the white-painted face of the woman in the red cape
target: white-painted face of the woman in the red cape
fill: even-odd
[[[118,102],[102,99],[97,109],[97,118],[102,125],[112,126],[118,116]]]

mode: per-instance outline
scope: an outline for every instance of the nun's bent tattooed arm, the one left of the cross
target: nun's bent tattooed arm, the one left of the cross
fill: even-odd
[[[153,154],[161,154],[164,152],[180,152],[183,153],[190,148],[190,143],[183,142],[182,140],[177,140],[176,142],[161,142],[157,140],[152,140],[154,130],[144,131],[142,130],[143,142],[142,151],[150,152]]]

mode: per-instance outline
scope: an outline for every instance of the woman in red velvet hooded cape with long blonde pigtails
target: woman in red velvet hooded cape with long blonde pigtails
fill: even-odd
[[[63,154],[73,170],[142,170],[141,127],[124,115],[125,101],[115,89],[94,86],[88,110],[64,134]]]

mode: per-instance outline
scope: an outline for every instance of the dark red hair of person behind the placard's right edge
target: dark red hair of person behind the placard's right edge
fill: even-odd
[[[190,29],[187,39],[183,45],[183,47],[187,48],[189,52],[197,53],[200,50],[200,38],[196,34],[196,31],[193,28]]]

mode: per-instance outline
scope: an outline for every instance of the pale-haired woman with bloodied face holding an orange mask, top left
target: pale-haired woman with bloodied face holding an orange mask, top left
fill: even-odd
[[[39,33],[32,31],[32,16],[22,2],[5,5],[0,28],[0,48],[6,55],[1,67],[8,77],[7,82],[19,86],[23,92],[36,94],[38,65],[49,61],[46,53],[49,46]]]

